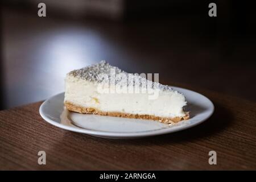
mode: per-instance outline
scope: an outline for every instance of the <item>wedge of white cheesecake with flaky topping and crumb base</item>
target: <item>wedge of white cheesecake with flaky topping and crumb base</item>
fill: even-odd
[[[65,77],[64,105],[70,111],[176,123],[189,118],[183,94],[106,61]]]

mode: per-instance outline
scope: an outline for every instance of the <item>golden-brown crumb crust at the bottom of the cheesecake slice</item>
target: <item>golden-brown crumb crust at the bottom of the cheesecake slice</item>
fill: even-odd
[[[123,118],[151,119],[151,120],[155,120],[155,121],[159,121],[167,124],[174,124],[174,123],[189,119],[188,112],[186,112],[186,115],[184,117],[162,118],[162,117],[157,117],[155,115],[148,115],[148,114],[127,114],[127,113],[119,113],[119,112],[104,112],[104,111],[94,109],[92,107],[77,106],[70,102],[65,102],[64,105],[68,110],[81,113],[81,114],[99,114],[99,115],[109,115],[109,116],[123,117]]]

